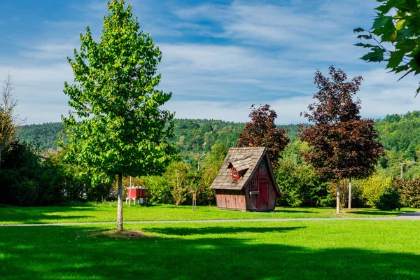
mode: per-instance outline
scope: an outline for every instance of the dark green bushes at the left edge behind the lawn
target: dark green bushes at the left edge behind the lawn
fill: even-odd
[[[25,142],[15,141],[3,155],[0,203],[22,206],[66,203],[109,193],[109,185],[92,186],[77,176],[79,167],[64,162],[62,153],[41,156]]]

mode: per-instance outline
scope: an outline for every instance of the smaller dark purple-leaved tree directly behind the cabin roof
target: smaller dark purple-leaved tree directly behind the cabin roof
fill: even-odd
[[[237,146],[267,147],[269,158],[275,165],[280,158],[280,152],[286,148],[289,137],[284,135],[286,130],[276,128],[274,120],[277,118],[277,113],[269,107],[268,104],[258,109],[254,105],[251,106],[251,113],[249,113],[251,122],[246,123],[244,131],[239,134]]]

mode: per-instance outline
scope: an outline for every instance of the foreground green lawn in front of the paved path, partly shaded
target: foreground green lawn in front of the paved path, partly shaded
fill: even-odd
[[[420,221],[0,228],[0,279],[420,279]]]

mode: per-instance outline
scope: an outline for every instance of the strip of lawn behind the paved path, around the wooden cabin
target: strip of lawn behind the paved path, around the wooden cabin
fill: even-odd
[[[340,215],[333,208],[315,207],[277,207],[272,213],[252,213],[241,211],[225,211],[216,207],[176,207],[174,205],[135,206],[124,204],[125,221],[191,221],[212,219],[246,219],[246,218],[350,218],[397,216],[397,214],[416,209],[402,211],[378,211],[375,209],[353,209]],[[418,209],[417,209],[418,211]],[[10,207],[0,205],[0,225],[27,223],[85,223],[116,221],[116,203],[85,203],[69,207]]]

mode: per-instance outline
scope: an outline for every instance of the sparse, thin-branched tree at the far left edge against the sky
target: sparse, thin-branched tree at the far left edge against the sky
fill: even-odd
[[[18,100],[13,96],[13,80],[10,74],[3,80],[0,95],[0,168],[1,153],[16,138],[18,129],[18,116],[15,116],[14,109],[18,105]]]

